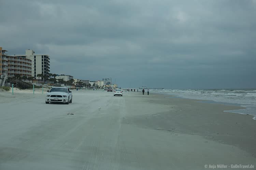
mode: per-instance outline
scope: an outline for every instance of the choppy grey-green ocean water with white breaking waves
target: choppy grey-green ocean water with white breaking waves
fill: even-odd
[[[219,90],[179,90],[179,89],[163,89],[151,90],[166,95],[174,95],[177,97],[188,99],[205,100],[204,103],[219,103],[226,105],[243,106],[245,109],[232,110],[226,112],[249,114],[254,116],[256,120],[256,89],[219,89]]]

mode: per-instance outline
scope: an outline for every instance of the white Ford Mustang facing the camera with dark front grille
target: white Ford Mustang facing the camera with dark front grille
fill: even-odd
[[[72,92],[67,87],[53,87],[47,90],[45,103],[58,102],[69,104],[72,103]]]

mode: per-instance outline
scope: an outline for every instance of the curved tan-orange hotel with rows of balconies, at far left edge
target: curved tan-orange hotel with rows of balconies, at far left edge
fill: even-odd
[[[14,77],[15,74],[30,77],[32,73],[32,61],[26,56],[12,56],[6,54],[7,50],[0,47],[0,74]]]

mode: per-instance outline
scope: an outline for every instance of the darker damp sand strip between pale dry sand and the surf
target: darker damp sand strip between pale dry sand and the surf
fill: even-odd
[[[244,107],[200,103],[198,101],[202,100],[197,99],[167,98],[166,96],[172,95],[153,92],[145,97],[142,94],[134,94],[135,96],[144,100],[145,104],[159,104],[169,109],[153,115],[137,116],[135,124],[173,133],[199,135],[205,139],[239,147],[256,157],[256,124],[253,116],[225,112]],[[144,119],[148,121],[147,124],[143,122]]]

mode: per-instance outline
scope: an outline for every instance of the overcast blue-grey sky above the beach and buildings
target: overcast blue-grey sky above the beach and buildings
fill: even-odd
[[[0,0],[0,46],[120,87],[255,88],[255,0]]]

